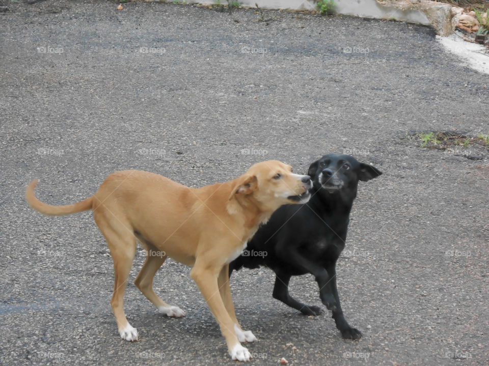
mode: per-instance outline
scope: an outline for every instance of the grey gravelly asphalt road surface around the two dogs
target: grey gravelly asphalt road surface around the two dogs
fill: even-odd
[[[364,338],[342,340],[328,314],[304,317],[274,300],[269,270],[242,270],[232,292],[259,340],[248,345],[251,364],[489,364],[488,150],[467,159],[406,138],[488,133],[489,76],[460,66],[430,28],[278,11],[266,24],[252,10],[173,4],[4,3],[0,363],[233,364],[189,269],[169,260],[157,273],[157,292],[187,313],[162,317],[132,284],[139,252],[125,311],[140,341],[121,340],[112,261],[91,212],[37,214],[23,199],[32,178],[41,199],[66,204],[114,170],[198,187],[265,159],[305,172],[348,150],[384,172],[361,184],[338,263],[346,318]],[[320,304],[310,276],[290,288]]]

